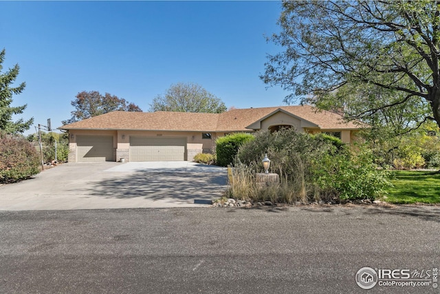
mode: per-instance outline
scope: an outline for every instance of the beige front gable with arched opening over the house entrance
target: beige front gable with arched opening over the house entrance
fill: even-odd
[[[248,125],[246,129],[269,129],[270,127],[276,125],[291,125],[298,129],[298,131],[303,131],[304,128],[319,128],[315,123],[311,123],[309,120],[300,118],[291,112],[287,112],[284,109],[278,108],[274,112],[263,116],[254,123]]]

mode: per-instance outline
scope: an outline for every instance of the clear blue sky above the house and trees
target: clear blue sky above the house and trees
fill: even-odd
[[[19,63],[20,116],[52,127],[82,91],[110,93],[147,111],[173,83],[198,83],[227,107],[283,105],[259,79],[281,50],[278,1],[0,1],[3,72]],[[34,127],[25,134],[34,132]]]

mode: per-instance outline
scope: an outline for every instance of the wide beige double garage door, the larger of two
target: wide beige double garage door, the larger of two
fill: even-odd
[[[130,137],[130,161],[185,160],[186,138]]]

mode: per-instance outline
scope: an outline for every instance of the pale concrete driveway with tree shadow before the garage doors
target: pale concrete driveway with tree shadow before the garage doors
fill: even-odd
[[[195,162],[65,163],[1,185],[0,210],[201,207],[226,187],[225,168]]]

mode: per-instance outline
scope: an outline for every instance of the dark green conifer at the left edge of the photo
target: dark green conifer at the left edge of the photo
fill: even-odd
[[[3,66],[1,64],[4,60],[5,50],[3,49],[0,52],[0,131],[6,134],[23,133],[34,123],[34,118],[26,121],[20,118],[14,122],[12,116],[14,114],[22,114],[28,105],[11,107],[10,104],[12,103],[12,95],[23,92],[26,84],[23,82],[17,87],[11,87],[19,75],[20,67],[16,64],[7,72],[2,72]]]

